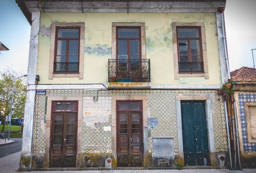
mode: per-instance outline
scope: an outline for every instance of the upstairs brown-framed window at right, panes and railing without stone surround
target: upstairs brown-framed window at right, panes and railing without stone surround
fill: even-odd
[[[179,72],[204,72],[200,28],[177,27],[177,41]]]

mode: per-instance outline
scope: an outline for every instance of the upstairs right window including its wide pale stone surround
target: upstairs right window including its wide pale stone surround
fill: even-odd
[[[204,23],[172,23],[174,77],[209,79]]]

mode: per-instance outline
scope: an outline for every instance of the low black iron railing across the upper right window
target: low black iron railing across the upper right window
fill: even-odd
[[[203,62],[178,62],[178,71],[201,73],[204,72],[204,65]]]

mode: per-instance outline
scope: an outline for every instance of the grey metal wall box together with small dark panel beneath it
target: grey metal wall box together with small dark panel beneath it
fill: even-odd
[[[173,137],[152,137],[153,159],[158,167],[172,166],[174,160]]]

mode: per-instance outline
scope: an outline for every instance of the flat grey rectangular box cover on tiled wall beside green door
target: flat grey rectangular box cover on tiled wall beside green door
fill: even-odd
[[[152,137],[153,157],[174,157],[173,137]]]

